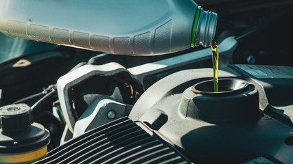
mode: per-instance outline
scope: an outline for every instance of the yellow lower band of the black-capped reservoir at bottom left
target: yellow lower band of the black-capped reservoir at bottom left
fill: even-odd
[[[32,163],[43,159],[47,154],[47,145],[38,150],[16,154],[0,154],[0,163]]]

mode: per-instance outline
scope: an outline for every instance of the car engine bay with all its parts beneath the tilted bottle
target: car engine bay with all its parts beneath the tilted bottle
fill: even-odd
[[[209,89],[210,47],[124,56],[57,46],[1,61],[0,109],[28,107],[17,119],[43,129],[30,133],[48,149],[36,163],[293,163],[292,2],[198,3],[219,13],[220,94]]]

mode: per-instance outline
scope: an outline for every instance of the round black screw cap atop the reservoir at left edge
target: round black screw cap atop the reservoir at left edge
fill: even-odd
[[[33,122],[32,109],[25,104],[0,107],[0,128],[3,133],[24,131]]]

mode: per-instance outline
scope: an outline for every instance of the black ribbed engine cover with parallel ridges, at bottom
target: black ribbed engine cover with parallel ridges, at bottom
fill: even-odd
[[[36,163],[191,163],[161,138],[129,118],[93,129]]]

